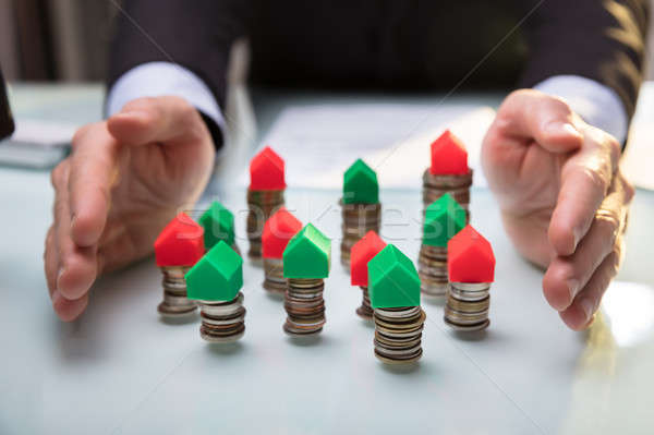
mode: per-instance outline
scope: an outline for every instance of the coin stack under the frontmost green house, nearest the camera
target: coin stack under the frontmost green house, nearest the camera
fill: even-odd
[[[420,306],[375,309],[375,357],[387,364],[412,363],[422,357],[426,318]]]

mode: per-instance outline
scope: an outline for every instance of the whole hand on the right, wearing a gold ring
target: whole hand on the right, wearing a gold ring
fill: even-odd
[[[547,267],[543,292],[568,327],[588,327],[617,274],[634,189],[620,145],[558,98],[510,94],[484,138],[482,164],[516,247]]]

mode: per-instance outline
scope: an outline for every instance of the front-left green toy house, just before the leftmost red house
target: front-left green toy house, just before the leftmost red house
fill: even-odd
[[[222,240],[185,275],[189,299],[233,300],[243,287],[243,258]]]

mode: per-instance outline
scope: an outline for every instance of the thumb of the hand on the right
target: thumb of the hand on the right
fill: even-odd
[[[497,125],[507,136],[534,140],[552,153],[581,147],[583,136],[570,107],[561,99],[534,89],[510,94],[497,111]]]

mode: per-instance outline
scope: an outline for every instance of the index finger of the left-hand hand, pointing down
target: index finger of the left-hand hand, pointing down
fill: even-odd
[[[118,176],[118,149],[105,122],[81,129],[73,138],[68,189],[71,237],[80,246],[95,245],[105,229]]]

